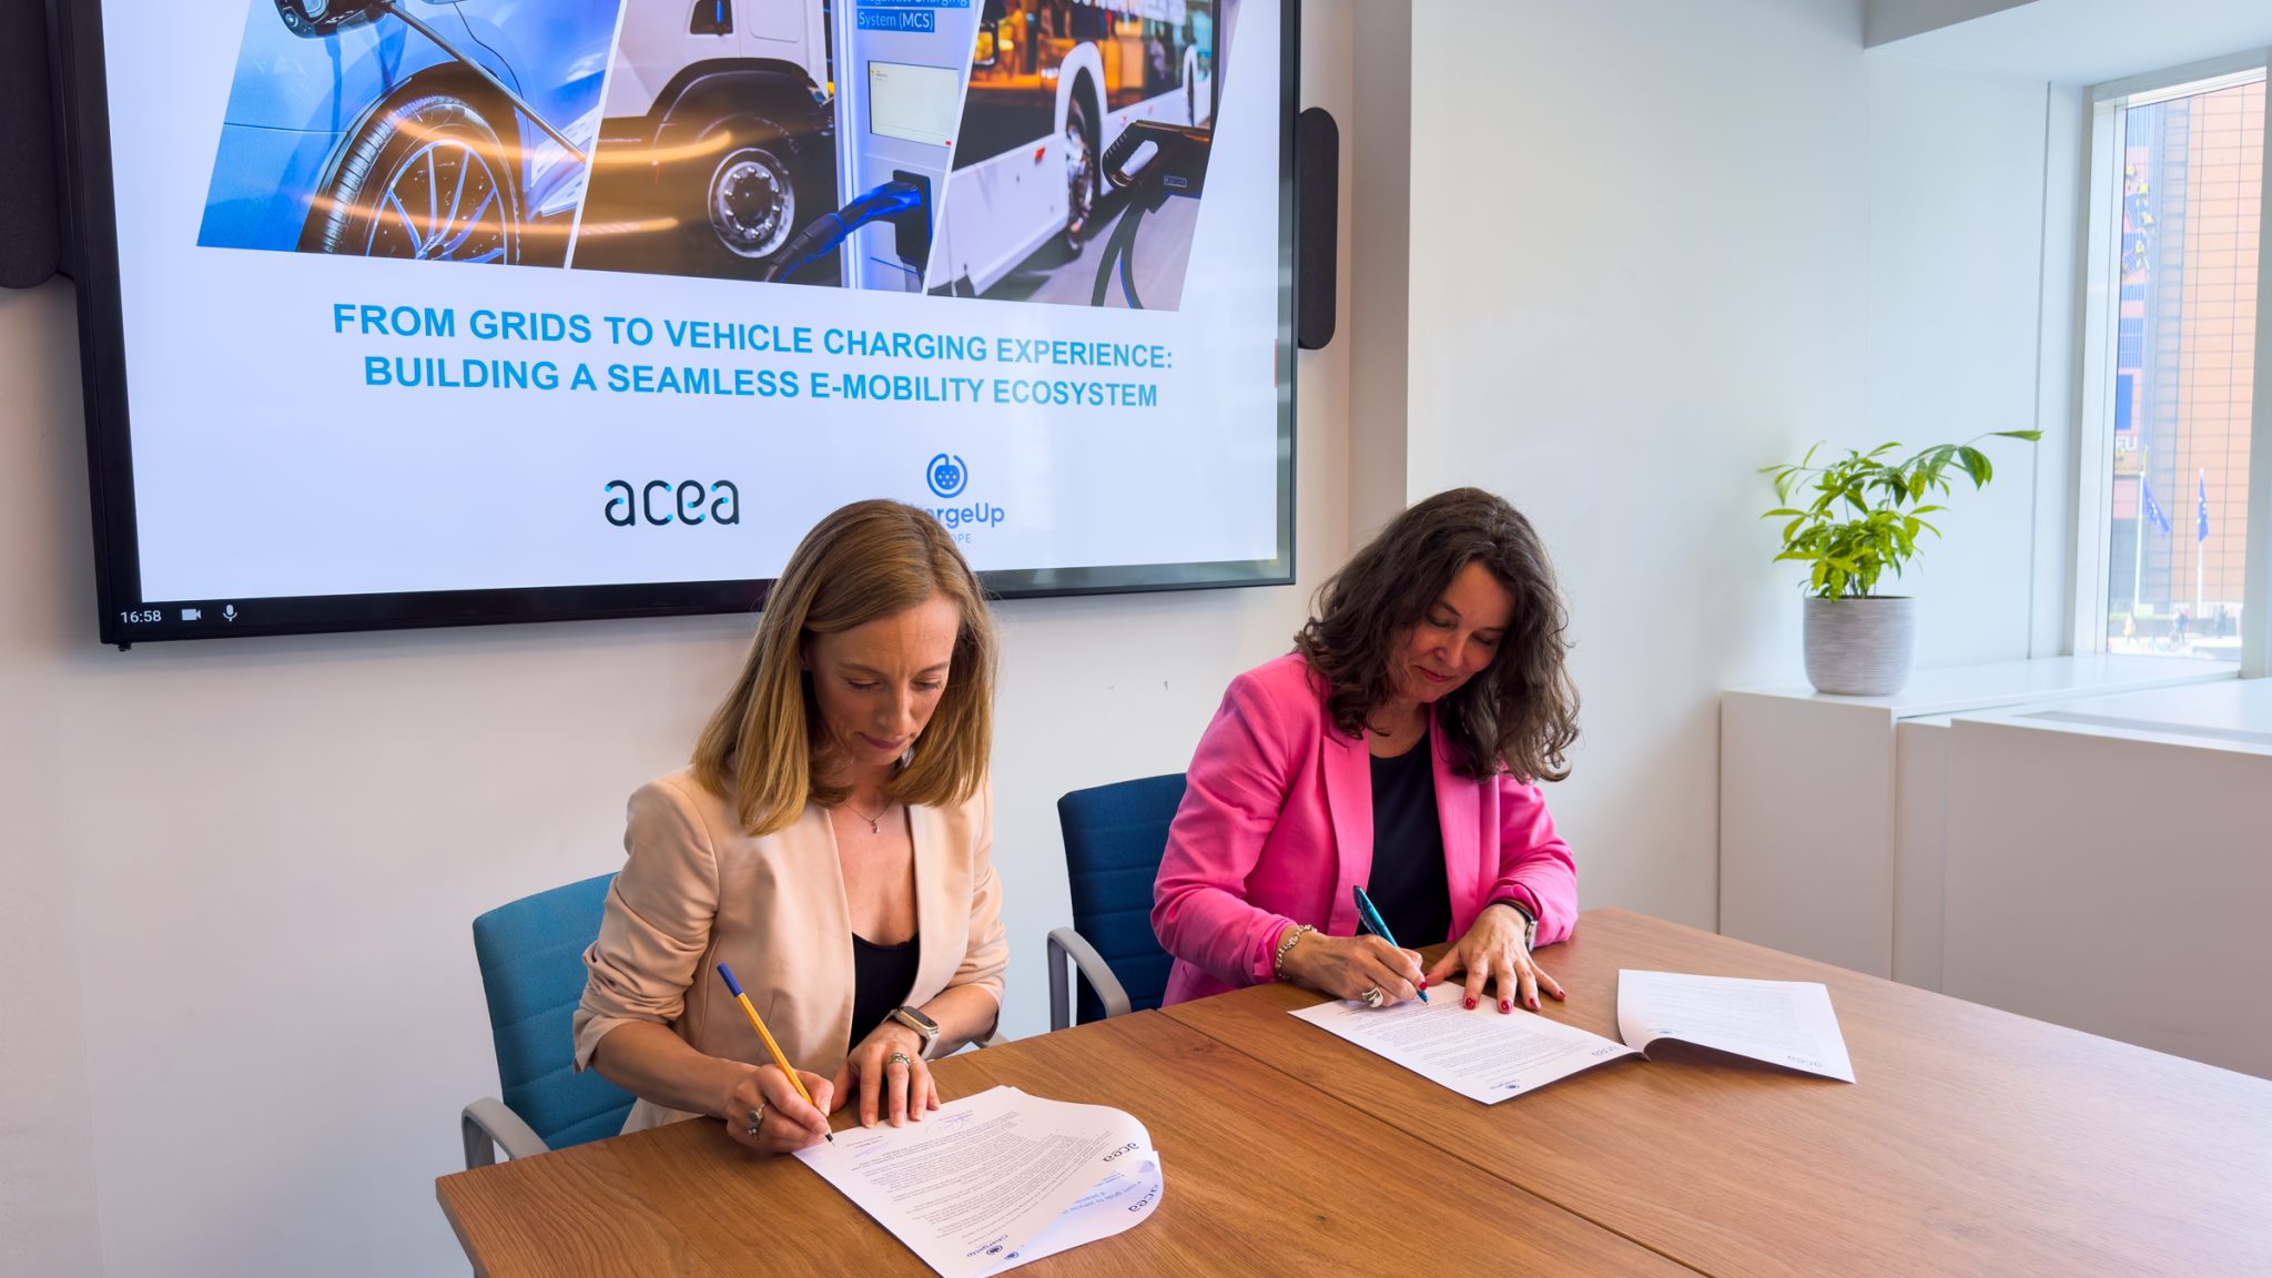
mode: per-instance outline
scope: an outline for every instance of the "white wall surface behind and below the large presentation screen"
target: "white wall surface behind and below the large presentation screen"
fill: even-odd
[[[1306,7],[1343,118],[1347,32]],[[468,923],[620,864],[750,623],[98,648],[73,332],[68,287],[0,293],[0,1269],[459,1273],[432,1180],[498,1087]],[[1056,796],[1179,771],[1345,553],[1347,350],[1300,359],[1297,587],[1002,607],[1013,1035],[1068,914]]]

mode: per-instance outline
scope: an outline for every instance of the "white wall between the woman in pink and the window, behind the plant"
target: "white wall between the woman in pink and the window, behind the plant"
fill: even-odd
[[[1756,468],[2063,412],[2045,86],[1865,55],[1858,0],[1413,16],[1409,493],[1497,489],[1552,546],[1586,901],[1713,926],[1720,689],[1799,680]],[[2029,655],[2038,459],[1995,457],[1899,582],[1920,664]]]

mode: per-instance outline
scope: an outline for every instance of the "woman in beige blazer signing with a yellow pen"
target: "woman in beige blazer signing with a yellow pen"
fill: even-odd
[[[575,1064],[638,1096],[625,1130],[707,1114],[779,1153],[854,1098],[868,1126],[938,1107],[925,1062],[993,1032],[1009,960],[993,666],[977,578],[929,514],[857,503],[804,537],[693,766],[632,796],[584,951]]]

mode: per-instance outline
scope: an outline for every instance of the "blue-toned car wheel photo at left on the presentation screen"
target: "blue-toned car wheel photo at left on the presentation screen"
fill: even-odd
[[[561,266],[618,0],[248,0],[198,243]]]

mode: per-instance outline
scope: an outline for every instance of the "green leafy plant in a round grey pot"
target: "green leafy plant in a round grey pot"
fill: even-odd
[[[1877,582],[1918,555],[1918,534],[1940,530],[1924,521],[1945,509],[1927,505],[1933,493],[1947,496],[1949,471],[1972,480],[1974,489],[1995,478],[1988,455],[1974,448],[1981,439],[2043,439],[2040,430],[1995,430],[1965,443],[1936,443],[1908,457],[1895,457],[1899,443],[1881,443],[1870,453],[1847,450],[1827,466],[1815,466],[1815,443],[1793,466],[1763,466],[1774,478],[1777,509],[1761,518],[1788,518],[1784,550],[1777,562],[1806,564],[1806,682],[1818,691],[1843,696],[1890,696],[1908,682],[1908,659],[1918,639],[1918,600],[1881,596]],[[1811,493],[1806,505],[1793,505],[1795,493]]]

